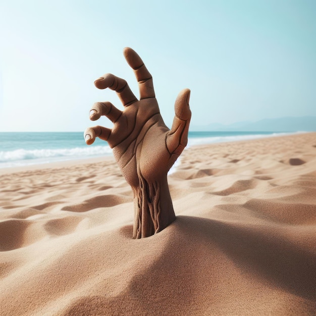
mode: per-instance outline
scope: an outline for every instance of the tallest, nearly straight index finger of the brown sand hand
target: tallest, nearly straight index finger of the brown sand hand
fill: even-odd
[[[133,68],[138,86],[140,99],[155,97],[152,76],[144,65],[137,52],[130,47],[125,47],[124,57],[131,68]]]

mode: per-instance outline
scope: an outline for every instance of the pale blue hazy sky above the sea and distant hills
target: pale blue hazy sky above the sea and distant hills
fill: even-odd
[[[93,82],[128,81],[138,52],[171,127],[191,89],[191,125],[316,116],[316,1],[0,0],[0,131],[84,131]]]

